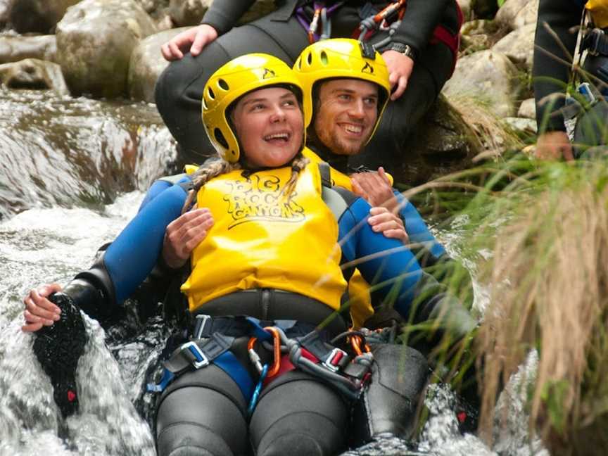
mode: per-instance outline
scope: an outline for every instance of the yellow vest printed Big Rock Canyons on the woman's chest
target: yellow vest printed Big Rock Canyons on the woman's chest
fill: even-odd
[[[281,194],[291,168],[220,175],[198,192],[215,224],[192,252],[182,285],[191,312],[234,291],[293,291],[340,308],[346,289],[339,261],[338,224],[321,197],[316,163],[300,172],[291,194]]]

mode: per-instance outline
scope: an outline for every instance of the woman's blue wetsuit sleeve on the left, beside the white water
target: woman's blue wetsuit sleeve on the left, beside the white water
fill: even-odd
[[[118,303],[133,293],[156,265],[165,229],[181,214],[186,196],[179,184],[160,192],[141,208],[108,247],[103,260]]]

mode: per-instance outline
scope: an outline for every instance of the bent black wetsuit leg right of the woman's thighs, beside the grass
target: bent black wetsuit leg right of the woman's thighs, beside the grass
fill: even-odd
[[[406,346],[379,344],[369,386],[353,412],[355,445],[379,434],[410,438],[429,376],[426,358]]]

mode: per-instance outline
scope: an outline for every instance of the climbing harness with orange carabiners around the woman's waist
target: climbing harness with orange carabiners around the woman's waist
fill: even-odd
[[[305,336],[288,337],[286,331],[298,326],[293,320],[277,320],[270,326],[262,327],[260,320],[252,317],[210,317],[197,315],[193,338],[182,343],[164,363],[163,378],[158,384],[148,384],[148,391],[162,392],[171,381],[189,369],[203,369],[215,364],[227,372],[239,385],[243,396],[251,398],[250,412],[255,407],[264,386],[293,369],[316,376],[333,385],[347,398],[356,399],[371,376],[374,357],[366,346],[365,335],[360,331],[338,334],[329,343],[322,331],[313,329]],[[229,324],[232,322],[232,324]],[[218,325],[219,323],[219,325]],[[221,331],[213,328],[222,327]],[[212,331],[213,332],[210,332]],[[224,334],[222,334],[222,332]],[[239,334],[241,333],[241,334]],[[247,344],[249,359],[259,374],[255,387],[243,367],[231,351],[234,339],[250,336]],[[201,336],[196,338],[196,336]],[[342,338],[350,338],[353,355],[334,346]],[[263,364],[255,351],[255,346],[270,346],[272,367]],[[356,347],[356,348],[355,348]],[[238,369],[236,362],[240,369]],[[246,374],[246,379],[243,376]]]

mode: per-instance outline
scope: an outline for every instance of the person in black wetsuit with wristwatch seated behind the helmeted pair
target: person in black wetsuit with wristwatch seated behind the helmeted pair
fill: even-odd
[[[234,27],[253,3],[254,0],[214,1],[201,25],[163,45],[163,56],[172,63],[156,84],[156,106],[183,156],[195,163],[200,162],[201,155],[213,153],[201,127],[200,94],[220,65],[249,52],[269,53],[291,65],[310,40],[318,39],[324,30],[329,32],[324,38],[359,37],[357,27],[362,19],[369,20],[391,4],[377,0],[277,1],[277,11]],[[310,34],[309,39],[315,5],[319,8],[319,26],[314,32],[318,33]],[[379,44],[393,94],[377,134],[362,154],[350,158],[355,166],[376,169],[382,165],[393,172],[393,164],[407,159],[405,139],[429,110],[455,65],[462,22],[455,0],[408,0],[403,9],[388,18],[389,23],[401,14],[400,23],[393,23],[390,41],[379,44],[388,31],[367,39]]]

